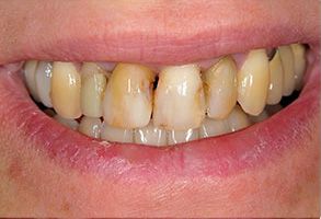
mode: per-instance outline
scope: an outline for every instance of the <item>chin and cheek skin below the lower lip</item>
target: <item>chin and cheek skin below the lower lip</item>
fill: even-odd
[[[163,176],[157,182],[124,182],[62,169],[31,149],[35,145],[21,132],[8,132],[8,124],[1,124],[0,215],[317,217],[318,120],[316,115],[310,135],[298,142],[303,147],[293,147],[260,169],[225,178],[177,176],[173,181]]]

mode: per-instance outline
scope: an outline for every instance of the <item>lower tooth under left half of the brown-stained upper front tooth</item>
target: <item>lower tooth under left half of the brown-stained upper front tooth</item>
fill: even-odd
[[[134,142],[134,130],[112,127],[104,122],[101,138],[108,141],[130,143]]]

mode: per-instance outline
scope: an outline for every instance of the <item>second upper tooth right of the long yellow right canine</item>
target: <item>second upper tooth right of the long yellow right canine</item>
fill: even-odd
[[[294,54],[290,46],[280,46],[278,50],[284,72],[283,95],[288,96],[296,85]]]

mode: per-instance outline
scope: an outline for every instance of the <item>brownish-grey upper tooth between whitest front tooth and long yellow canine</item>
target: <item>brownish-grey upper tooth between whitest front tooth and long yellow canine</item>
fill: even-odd
[[[226,118],[233,110],[238,97],[237,66],[231,57],[220,59],[204,77],[207,116]]]

